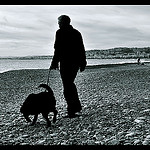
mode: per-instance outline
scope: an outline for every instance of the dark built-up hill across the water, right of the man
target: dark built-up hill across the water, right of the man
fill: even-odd
[[[106,50],[86,51],[87,58],[150,58],[150,47],[128,48],[118,47]]]

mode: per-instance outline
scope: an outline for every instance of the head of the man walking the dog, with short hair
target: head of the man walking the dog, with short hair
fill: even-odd
[[[67,15],[61,15],[58,17],[58,24],[60,28],[70,25],[70,22],[71,19]]]

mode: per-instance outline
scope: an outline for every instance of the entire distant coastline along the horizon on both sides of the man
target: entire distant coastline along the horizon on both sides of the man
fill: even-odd
[[[86,50],[87,59],[136,59],[138,57],[150,58],[150,47],[143,47],[143,48],[117,47],[105,50],[103,49]],[[0,59],[17,59],[17,60],[52,59],[52,58],[53,55],[0,57]]]

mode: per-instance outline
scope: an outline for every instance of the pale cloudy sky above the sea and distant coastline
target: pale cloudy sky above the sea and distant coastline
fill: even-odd
[[[63,14],[86,50],[150,46],[150,5],[0,5],[0,56],[53,55]]]

